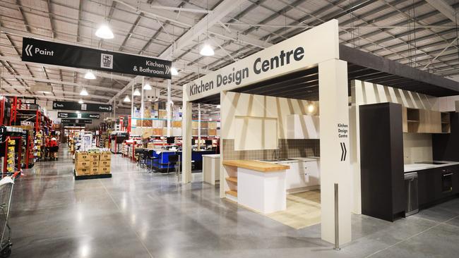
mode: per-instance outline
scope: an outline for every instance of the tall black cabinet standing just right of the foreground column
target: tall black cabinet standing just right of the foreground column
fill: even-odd
[[[386,221],[404,216],[402,106],[359,106],[362,214]]]

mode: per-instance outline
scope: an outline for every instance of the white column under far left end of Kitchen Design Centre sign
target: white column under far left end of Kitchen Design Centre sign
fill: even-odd
[[[183,107],[181,110],[181,154],[183,155],[183,164],[181,164],[181,183],[191,182],[191,133],[193,131],[191,129],[191,119],[191,102],[188,102],[188,97],[184,94]]]

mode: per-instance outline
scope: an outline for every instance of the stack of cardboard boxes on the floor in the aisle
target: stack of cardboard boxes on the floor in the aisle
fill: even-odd
[[[99,149],[92,149],[88,152],[76,152],[76,175],[89,176],[110,173],[111,157],[112,154],[109,151],[100,151]]]

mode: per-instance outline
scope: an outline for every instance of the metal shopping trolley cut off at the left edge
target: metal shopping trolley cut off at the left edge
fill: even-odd
[[[11,228],[8,225],[8,215],[11,207],[11,197],[13,196],[13,185],[16,176],[20,172],[13,173],[0,180],[0,257],[9,257],[11,254]]]

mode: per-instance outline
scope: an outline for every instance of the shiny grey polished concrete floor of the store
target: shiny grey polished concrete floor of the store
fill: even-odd
[[[238,207],[200,174],[179,185],[117,156],[113,178],[75,181],[60,155],[17,180],[11,257],[459,257],[459,199],[394,223],[353,215],[352,242],[336,252],[320,225]]]

